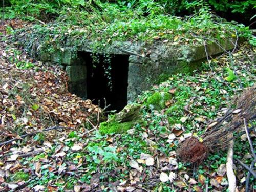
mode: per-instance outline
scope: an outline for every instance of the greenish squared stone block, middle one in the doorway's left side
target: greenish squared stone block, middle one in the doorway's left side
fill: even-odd
[[[70,82],[86,81],[86,66],[67,66],[66,72]]]

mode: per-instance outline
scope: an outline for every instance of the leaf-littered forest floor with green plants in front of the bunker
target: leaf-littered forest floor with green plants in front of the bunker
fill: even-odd
[[[182,163],[176,150],[254,85],[255,48],[244,43],[231,57],[211,58],[193,74],[170,76],[138,97],[142,122],[125,133],[103,134],[97,130],[101,109],[68,93],[64,70],[31,59],[5,29],[1,33],[0,142],[14,140],[0,146],[1,191],[227,190],[226,151],[193,167]],[[158,93],[170,97],[155,102]],[[234,143],[234,157],[249,165],[246,134]],[[234,164],[238,190],[245,191],[247,171]]]

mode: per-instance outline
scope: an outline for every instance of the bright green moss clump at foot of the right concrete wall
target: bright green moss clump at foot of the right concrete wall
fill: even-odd
[[[163,109],[165,102],[168,101],[172,95],[166,92],[155,92],[153,95],[147,98],[146,105],[150,108]]]

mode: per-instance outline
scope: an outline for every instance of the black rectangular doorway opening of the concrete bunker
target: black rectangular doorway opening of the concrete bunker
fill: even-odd
[[[79,56],[87,66],[87,98],[101,108],[110,105],[106,111],[121,111],[127,104],[129,55],[110,55],[110,61],[98,55],[97,63],[90,52],[80,52]]]

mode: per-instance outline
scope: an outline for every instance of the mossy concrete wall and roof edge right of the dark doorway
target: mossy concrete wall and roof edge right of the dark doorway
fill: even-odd
[[[222,48],[217,44],[206,46],[209,56],[214,56],[234,48],[230,41],[224,42]],[[204,45],[201,46],[174,46],[156,44],[150,48],[148,57],[131,55],[129,58],[128,95],[132,101],[143,90],[152,84],[159,82],[161,77],[169,76],[178,72],[189,73],[200,67],[206,60]]]

